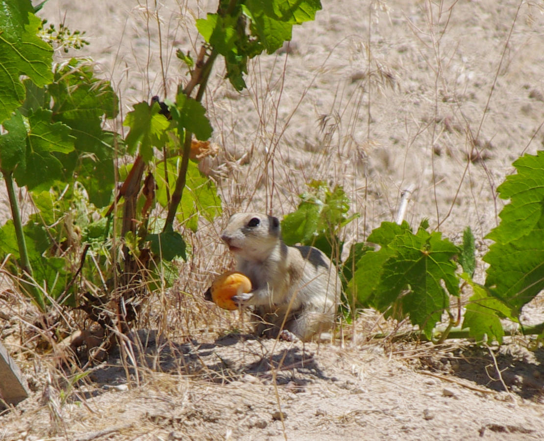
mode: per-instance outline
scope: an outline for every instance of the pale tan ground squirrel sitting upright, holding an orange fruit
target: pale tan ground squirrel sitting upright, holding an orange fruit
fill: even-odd
[[[251,281],[251,293],[233,300],[254,307],[259,336],[275,338],[281,329],[281,338],[306,341],[334,325],[341,283],[323,252],[287,246],[280,221],[261,213],[232,215],[221,240],[236,256],[236,270]]]

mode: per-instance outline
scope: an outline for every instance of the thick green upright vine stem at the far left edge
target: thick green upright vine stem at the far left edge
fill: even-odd
[[[17,206],[17,198],[15,196],[15,188],[13,185],[13,171],[0,170],[4,175],[5,187],[8,190],[9,206],[11,209],[11,219],[13,219],[13,225],[15,228],[15,237],[17,239],[17,247],[19,249],[19,256],[21,258],[21,269],[23,270],[23,279],[28,283],[28,289],[30,294],[38,303],[38,306],[42,311],[45,311],[44,297],[39,293],[38,289],[33,283],[32,266],[30,266],[30,259],[28,258],[27,243],[24,239],[23,224],[21,222],[21,213]]]

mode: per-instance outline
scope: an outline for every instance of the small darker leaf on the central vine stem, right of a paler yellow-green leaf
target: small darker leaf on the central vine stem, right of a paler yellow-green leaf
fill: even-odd
[[[212,135],[212,125],[206,117],[206,109],[194,98],[180,92],[176,96],[176,103],[169,104],[172,120],[177,122],[178,131],[186,129],[194,133],[196,138],[205,141]]]

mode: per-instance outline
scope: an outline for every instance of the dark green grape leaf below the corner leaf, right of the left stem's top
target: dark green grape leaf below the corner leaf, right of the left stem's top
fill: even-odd
[[[60,122],[51,122],[51,110],[39,109],[23,117],[27,126],[24,159],[18,163],[14,177],[19,187],[29,190],[40,184],[51,183],[63,175],[64,165],[58,153],[73,150],[70,127]]]

